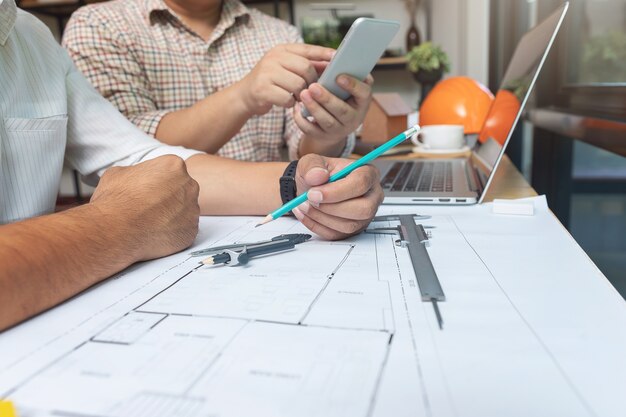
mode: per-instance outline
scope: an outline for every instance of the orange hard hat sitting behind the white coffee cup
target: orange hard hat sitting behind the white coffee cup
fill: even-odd
[[[438,82],[420,107],[420,125],[465,126],[465,134],[478,133],[493,101],[491,91],[469,77]]]

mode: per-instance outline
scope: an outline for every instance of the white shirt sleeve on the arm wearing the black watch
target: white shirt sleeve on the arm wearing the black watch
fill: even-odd
[[[163,155],[187,159],[203,152],[165,145],[146,135],[103,98],[60,48],[67,65],[66,160],[90,184],[107,168],[134,165]]]

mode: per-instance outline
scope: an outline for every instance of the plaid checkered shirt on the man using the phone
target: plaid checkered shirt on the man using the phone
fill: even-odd
[[[85,6],[72,15],[63,37],[63,45],[87,79],[152,136],[167,113],[232,85],[271,48],[294,42],[302,42],[295,27],[238,0],[224,0],[208,41],[191,31],[163,0]],[[269,113],[249,119],[218,154],[277,161],[287,145],[289,158],[296,159],[301,138],[292,109],[274,106]],[[352,148],[349,138],[343,155]]]

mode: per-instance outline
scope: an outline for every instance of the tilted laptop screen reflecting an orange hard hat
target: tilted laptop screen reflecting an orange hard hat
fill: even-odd
[[[480,145],[474,155],[481,162],[488,177],[480,197],[482,201],[493,173],[511,139],[515,124],[535,84],[539,71],[546,60],[561,22],[567,12],[568,3],[563,4],[547,19],[527,32],[519,41],[504,78],[496,93],[485,123],[478,135]]]

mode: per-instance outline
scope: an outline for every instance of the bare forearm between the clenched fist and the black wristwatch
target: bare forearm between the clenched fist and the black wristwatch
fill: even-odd
[[[200,184],[203,215],[265,215],[280,207],[278,180],[285,162],[244,162],[195,155],[187,171]]]

